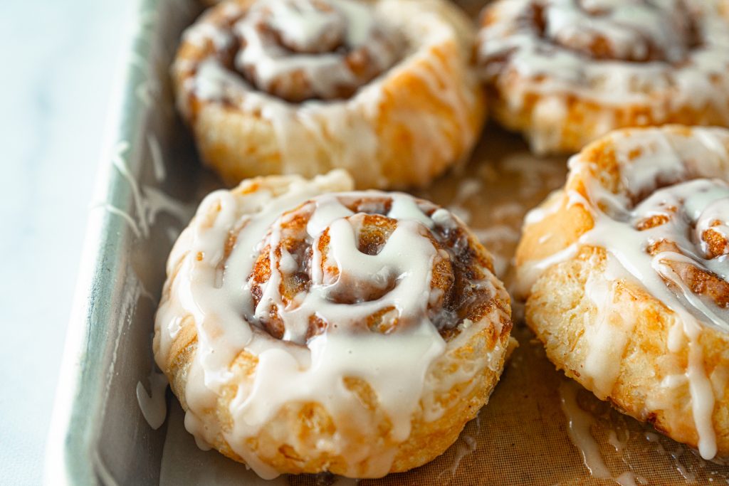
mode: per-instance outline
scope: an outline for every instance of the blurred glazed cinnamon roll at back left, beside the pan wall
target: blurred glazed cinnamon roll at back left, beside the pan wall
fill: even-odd
[[[339,167],[422,186],[483,125],[474,36],[445,0],[227,1],[183,36],[177,104],[227,183]]]

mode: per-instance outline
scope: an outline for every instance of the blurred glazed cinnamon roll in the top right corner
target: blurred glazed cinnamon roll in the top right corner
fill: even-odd
[[[727,0],[499,0],[477,50],[494,116],[540,154],[615,128],[729,125]]]

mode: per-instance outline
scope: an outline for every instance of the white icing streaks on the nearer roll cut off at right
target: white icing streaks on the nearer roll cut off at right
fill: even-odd
[[[682,372],[663,380],[666,396],[671,389],[687,383],[690,391],[693,420],[698,431],[701,456],[713,458],[717,452],[712,425],[715,392],[703,365],[703,348],[699,337],[703,326],[729,332],[725,309],[694,294],[675,270],[677,264],[690,264],[709,270],[727,280],[726,256],[708,254],[704,231],[718,223],[723,233],[729,212],[729,186],[717,177],[725,177],[729,158],[725,150],[728,133],[724,130],[695,128],[690,136],[667,135],[660,129],[617,132],[612,135],[615,158],[619,163],[620,187],[612,192],[596,176],[595,165],[577,155],[570,160],[572,176],[587,181],[587,197],[578,192],[566,194],[568,205],[582,205],[593,217],[594,226],[567,248],[542,260],[526,262],[519,269],[522,289],[531,289],[539,275],[553,264],[579,253],[583,246],[604,248],[608,253],[607,282],[588,281],[585,294],[604,321],[618,316],[610,326],[603,321],[586,323],[585,339],[590,345],[585,363],[585,379],[591,380],[593,391],[604,399],[609,396],[617,378],[619,358],[625,352],[634,322],[620,317],[612,291],[616,281],[642,285],[655,298],[674,312],[675,324],[668,334],[668,349],[679,353],[687,349],[688,363]],[[636,149],[640,149],[636,152]],[[695,178],[705,179],[695,179]],[[656,189],[658,185],[666,185]],[[646,197],[646,195],[648,195]],[[642,200],[640,200],[642,198]],[[639,203],[634,204],[634,200]],[[547,211],[553,211],[551,204]],[[542,218],[545,210],[528,216],[527,224]],[[649,219],[663,219],[663,224],[641,227]],[[668,250],[657,244],[670,243]],[[668,285],[671,284],[671,286]],[[721,372],[720,372],[721,374]],[[720,375],[718,375],[720,376]],[[651,397],[651,407],[669,407],[663,396]]]

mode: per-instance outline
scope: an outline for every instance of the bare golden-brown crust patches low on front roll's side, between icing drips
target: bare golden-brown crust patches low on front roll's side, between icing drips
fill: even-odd
[[[508,306],[507,302],[501,302],[500,305]],[[194,332],[194,329],[190,330]],[[482,329],[481,332],[470,337],[467,343],[454,349],[451,360],[437,362],[433,368],[443,367],[448,372],[457,372],[457,369],[453,368],[453,361],[459,361],[460,366],[468,367],[469,363],[478,361],[483,355],[493,353],[494,348],[497,350],[501,348],[505,351],[510,346],[510,330],[511,321],[508,320],[502,321],[502,332],[498,335],[495,335],[491,329]],[[170,380],[170,387],[185,411],[188,410],[184,398],[187,367],[192,362],[196,349],[197,340],[193,338],[186,346],[179,349],[176,356],[171,358],[172,362],[165,368],[165,375]],[[435,400],[443,404],[444,412],[437,420],[429,421],[422,416],[414,417],[410,436],[405,442],[397,445],[397,454],[389,472],[405,472],[422,466],[451,447],[469,420],[474,419],[478,411],[488,403],[491,391],[499,383],[504,358],[505,353],[502,353],[500,358],[489,363],[489,368],[494,371],[484,370],[472,382],[459,383],[440,393]],[[235,369],[236,374],[252,375],[255,371],[255,364],[254,356],[241,353],[232,368]],[[447,369],[449,365],[451,368]],[[433,369],[432,375],[434,375],[434,379],[437,379],[435,369]],[[370,404],[373,413],[381,417],[381,435],[386,436],[389,431],[389,420],[381,414],[381,411],[378,411],[372,394],[365,391],[366,383],[355,380],[350,386],[358,391],[362,401]],[[234,396],[235,390],[230,390],[221,397],[214,408],[208,410],[208,420],[222,423],[223,431],[226,430],[226,424],[230,426],[230,418],[226,417],[225,410],[230,407]],[[343,456],[319,454],[313,457],[303,457],[292,448],[270,447],[270,444],[278,444],[291,440],[289,436],[296,436],[297,442],[303,442],[311,447],[311,450],[316,450],[317,442],[331,438],[335,433],[346,434],[347,431],[333,428],[332,418],[321,405],[316,402],[292,404],[281,409],[270,419],[269,424],[262,428],[260,436],[255,441],[257,443],[254,445],[254,449],[265,463],[281,472],[315,474],[328,471],[332,474],[349,474],[348,469],[351,465]],[[230,444],[222,435],[219,436],[217,442],[211,445],[228,458],[245,462],[243,458],[233,452]],[[383,439],[383,447],[386,445],[391,444]],[[353,447],[356,447],[356,444],[353,444]],[[362,471],[366,469],[365,466],[366,464],[363,465]]]

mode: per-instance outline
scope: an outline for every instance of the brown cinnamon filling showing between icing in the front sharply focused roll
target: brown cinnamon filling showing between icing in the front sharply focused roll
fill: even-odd
[[[402,224],[397,217],[388,216],[393,206],[389,197],[352,200],[340,197],[340,202],[353,213],[343,219],[354,232],[356,251],[361,254],[380,254]],[[438,209],[423,200],[416,200],[416,204],[424,219],[429,219]],[[429,318],[440,335],[448,340],[457,334],[457,327],[464,319],[478,321],[491,312],[494,306],[491,286],[480,285],[480,281],[488,278],[484,269],[491,270],[491,263],[480,244],[454,219],[445,225],[432,222],[430,228],[425,224],[418,226],[418,233],[432,246],[434,256],[427,286],[430,297],[426,315],[413,317],[388,303],[387,296],[401,285],[402,275],[397,271],[385,266],[363,278],[363,275],[340,269],[332,249],[331,227],[326,227],[316,238],[307,232],[308,225],[316,219],[316,211],[316,204],[308,202],[284,213],[278,226],[268,233],[250,275],[254,307],[265,298],[265,287],[272,273],[281,275],[278,284],[281,307],[273,305],[265,318],[249,319],[271,336],[281,339],[286,331],[279,309],[296,310],[303,296],[311,291],[324,292],[328,302],[351,305],[353,309],[381,302],[379,308],[359,320],[354,329],[359,329],[357,332],[368,330],[387,334],[401,326],[413,325],[413,319]],[[321,275],[316,277],[321,278],[319,283],[313,277],[315,273]],[[306,340],[336,324],[314,312],[308,316]]]

